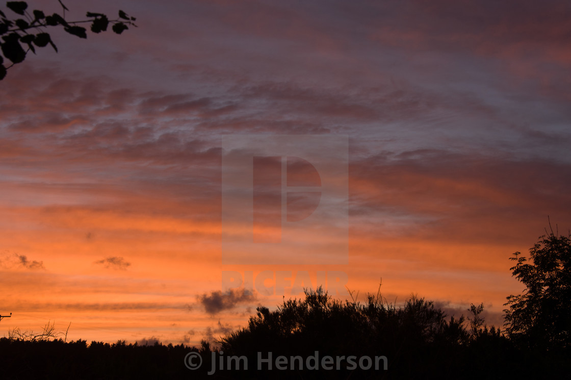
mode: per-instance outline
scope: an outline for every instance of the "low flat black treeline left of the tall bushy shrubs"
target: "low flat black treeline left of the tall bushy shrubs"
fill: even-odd
[[[3,379],[189,378],[184,357],[194,347],[112,345],[86,341],[18,341],[0,338]]]

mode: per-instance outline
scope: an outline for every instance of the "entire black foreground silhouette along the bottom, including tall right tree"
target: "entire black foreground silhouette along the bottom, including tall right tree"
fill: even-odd
[[[401,306],[389,303],[380,287],[364,302],[339,301],[318,288],[305,291],[302,299],[284,299],[276,310],[258,307],[247,326],[200,347],[30,341],[30,334],[13,330],[0,338],[0,374],[2,379],[567,378],[571,241],[552,231],[529,251],[529,259],[514,254],[512,274],[527,289],[507,297],[505,330],[486,326],[482,304],[471,305],[465,319],[447,317],[416,296]],[[196,355],[202,366],[188,369],[198,363]]]

